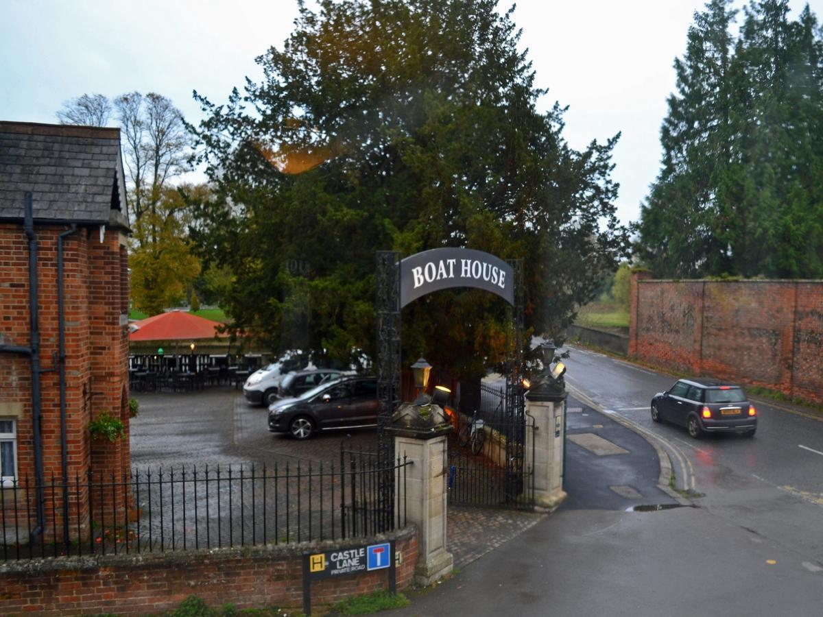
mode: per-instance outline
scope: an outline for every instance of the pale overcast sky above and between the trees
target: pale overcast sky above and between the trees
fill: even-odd
[[[823,0],[809,4],[820,19]],[[791,0],[790,17],[804,5]],[[549,89],[540,108],[569,105],[570,145],[622,132],[613,178],[624,223],[637,220],[658,173],[672,62],[702,7],[701,0],[522,0],[514,12],[535,85]],[[192,90],[219,104],[244,77],[257,79],[254,58],[281,46],[296,14],[295,0],[0,0],[0,120],[57,123],[63,101],[137,90],[169,97],[196,122]]]

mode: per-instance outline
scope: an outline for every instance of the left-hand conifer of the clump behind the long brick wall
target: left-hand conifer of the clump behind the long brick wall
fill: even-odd
[[[716,234],[718,180],[731,158],[730,0],[695,13],[686,54],[674,63],[677,94],[661,128],[663,167],[641,210],[643,256],[666,276],[700,276],[723,267]]]

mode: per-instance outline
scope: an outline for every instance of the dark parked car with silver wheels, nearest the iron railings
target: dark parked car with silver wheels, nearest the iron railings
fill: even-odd
[[[323,383],[268,408],[268,429],[308,439],[315,431],[377,425],[377,378],[347,377]]]

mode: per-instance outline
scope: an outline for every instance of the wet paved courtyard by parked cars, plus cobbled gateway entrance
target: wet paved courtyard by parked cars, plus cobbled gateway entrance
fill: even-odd
[[[140,414],[131,422],[132,466],[244,466],[339,462],[346,449],[376,444],[374,429],[330,431],[308,441],[269,433],[267,409],[249,405],[233,387],[197,392],[135,392]],[[449,550],[461,568],[542,520],[545,514],[494,508],[449,508]]]

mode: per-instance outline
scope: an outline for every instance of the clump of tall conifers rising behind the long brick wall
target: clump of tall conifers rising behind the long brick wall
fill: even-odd
[[[639,253],[659,276],[823,276],[821,30],[763,0],[734,41],[728,5],[695,14],[675,63]]]

